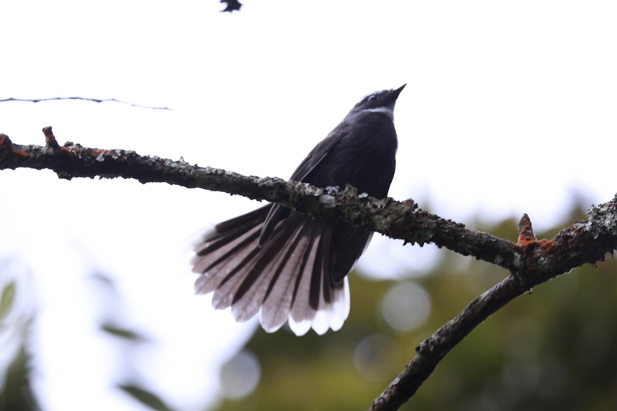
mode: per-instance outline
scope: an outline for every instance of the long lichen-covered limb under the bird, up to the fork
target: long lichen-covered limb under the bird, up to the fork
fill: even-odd
[[[315,216],[345,219],[356,226],[381,232],[409,243],[432,242],[463,255],[473,255],[508,268],[520,258],[513,244],[463,224],[444,220],[418,208],[413,200],[376,199],[352,187],[320,189],[276,177],[242,176],[223,169],[198,167],[186,161],[138,155],[128,150],[103,150],[67,142],[60,147],[51,132],[43,129],[45,146],[13,144],[0,137],[0,169],[51,169],[59,177],[123,177],[140,182],[167,182],[188,188],[239,194],[267,200]],[[360,194],[360,195],[358,195]]]

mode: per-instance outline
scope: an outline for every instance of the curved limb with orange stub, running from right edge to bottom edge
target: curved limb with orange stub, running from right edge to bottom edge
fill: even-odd
[[[524,214],[517,246],[521,259],[502,282],[475,298],[454,319],[416,348],[416,356],[379,396],[370,411],[394,411],[408,401],[444,356],[482,321],[505,304],[553,277],[586,262],[603,261],[617,249],[617,195],[589,211],[586,222],[561,230],[553,240],[536,240],[531,221]]]

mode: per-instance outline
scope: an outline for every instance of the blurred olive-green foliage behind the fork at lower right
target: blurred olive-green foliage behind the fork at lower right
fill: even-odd
[[[581,219],[584,214],[576,210],[563,226]],[[517,224],[478,228],[516,240]],[[536,235],[552,238],[557,231]],[[302,337],[258,330],[246,349],[259,358],[260,383],[249,396],[227,399],[218,410],[368,409],[421,341],[507,275],[486,262],[441,253],[433,272],[413,279],[431,296],[431,314],[420,328],[399,332],[384,320],[381,301],[397,282],[352,274],[352,309],[342,330]],[[617,409],[616,274],[615,259],[609,258],[508,304],[453,349],[402,410]],[[383,349],[358,364],[363,341],[381,342]]]

